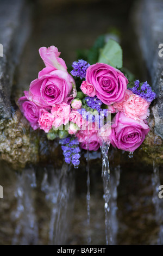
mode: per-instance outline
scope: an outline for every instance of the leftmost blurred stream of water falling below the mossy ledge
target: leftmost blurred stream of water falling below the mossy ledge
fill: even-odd
[[[36,245],[38,242],[38,227],[33,199],[33,189],[35,187],[34,169],[24,169],[17,176],[15,191],[17,209],[11,214],[12,220],[17,221],[17,224],[12,245]]]

